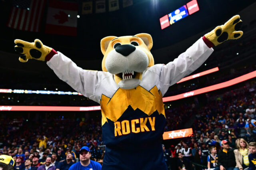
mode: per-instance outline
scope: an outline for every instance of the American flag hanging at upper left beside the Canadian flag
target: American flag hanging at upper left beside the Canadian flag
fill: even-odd
[[[13,0],[7,26],[10,28],[39,32],[46,0]]]

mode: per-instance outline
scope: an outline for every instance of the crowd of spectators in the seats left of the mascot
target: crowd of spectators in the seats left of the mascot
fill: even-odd
[[[66,170],[78,162],[80,148],[88,146],[91,159],[102,164],[104,146],[100,123],[97,118],[46,119],[38,123],[26,119],[1,119],[0,154],[12,156],[15,169],[30,163],[39,167],[57,162],[57,169]]]

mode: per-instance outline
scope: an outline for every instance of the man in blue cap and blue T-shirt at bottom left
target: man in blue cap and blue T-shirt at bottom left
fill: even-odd
[[[91,153],[88,146],[83,146],[79,151],[80,161],[70,166],[68,170],[101,170],[101,164],[90,160]]]

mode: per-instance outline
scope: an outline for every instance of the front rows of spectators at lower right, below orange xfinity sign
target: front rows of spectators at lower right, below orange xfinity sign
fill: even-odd
[[[171,145],[169,150],[162,144],[168,170],[256,169],[256,142],[248,143],[244,138],[237,138],[233,146],[230,138],[213,143],[202,142],[202,138],[194,139],[181,141],[175,147]]]

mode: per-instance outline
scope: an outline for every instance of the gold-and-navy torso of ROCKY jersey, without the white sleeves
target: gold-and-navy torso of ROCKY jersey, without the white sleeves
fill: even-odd
[[[127,141],[139,144],[161,138],[166,119],[162,94],[156,86],[150,91],[141,86],[130,90],[119,88],[111,99],[102,95],[100,104],[106,145]]]

